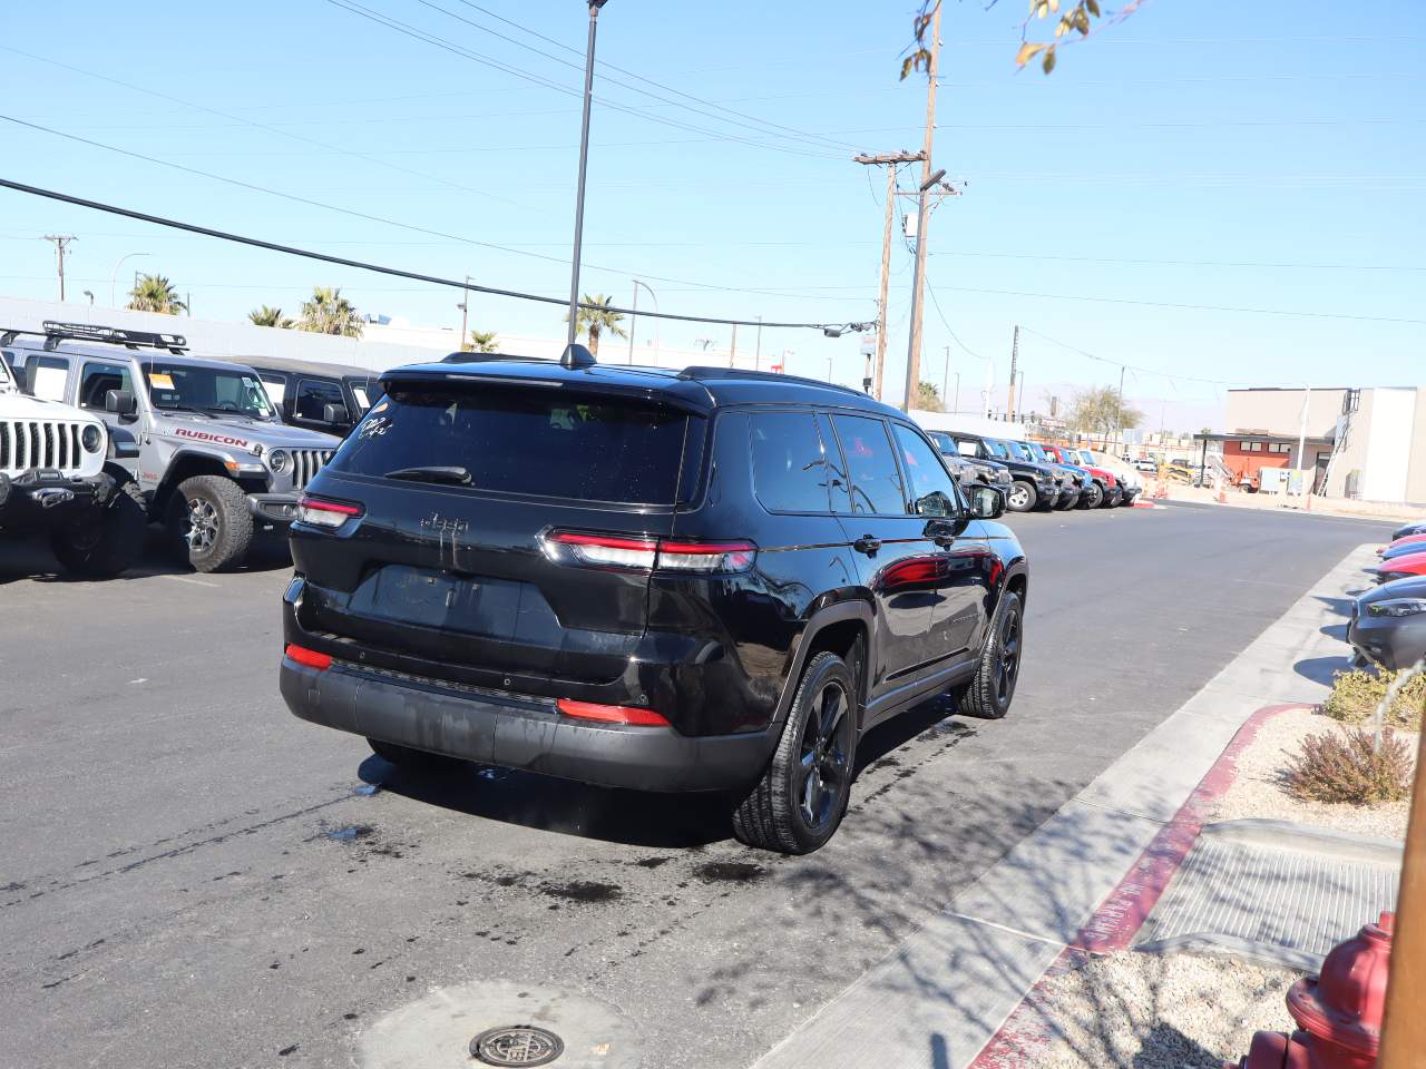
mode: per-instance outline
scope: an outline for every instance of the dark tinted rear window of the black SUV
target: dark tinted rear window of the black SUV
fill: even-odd
[[[337,450],[331,468],[368,476],[463,468],[476,490],[673,505],[690,423],[702,429],[703,420],[639,399],[396,383]],[[697,450],[689,452],[696,465]]]

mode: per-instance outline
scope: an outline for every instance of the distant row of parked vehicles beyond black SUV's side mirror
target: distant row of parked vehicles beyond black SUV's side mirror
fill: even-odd
[[[1112,509],[1132,505],[1144,483],[1128,465],[1089,449],[990,438],[965,430],[928,430],[963,486],[1005,492],[1011,512]]]

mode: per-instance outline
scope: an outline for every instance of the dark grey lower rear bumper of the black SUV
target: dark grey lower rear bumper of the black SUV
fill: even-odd
[[[281,690],[294,716],[339,731],[525,768],[563,780],[640,791],[722,791],[752,784],[776,734],[683,735],[666,727],[595,725],[553,703],[374,673],[334,661],[318,671],[282,659]]]

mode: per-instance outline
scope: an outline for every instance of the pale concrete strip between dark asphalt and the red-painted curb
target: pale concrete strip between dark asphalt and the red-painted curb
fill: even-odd
[[[1121,888],[1243,723],[1265,706],[1326,694],[1292,666],[1345,659],[1329,626],[1363,586],[1375,549],[1365,544],[1340,560],[1182,708],[754,1069],[970,1065]]]

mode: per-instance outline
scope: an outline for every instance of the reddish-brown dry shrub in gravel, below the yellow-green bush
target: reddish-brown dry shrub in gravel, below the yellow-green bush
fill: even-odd
[[[1352,728],[1345,735],[1326,731],[1302,740],[1283,775],[1288,794],[1301,801],[1378,805],[1402,801],[1412,790],[1412,761],[1406,743],[1390,731],[1380,753],[1372,733]]]

